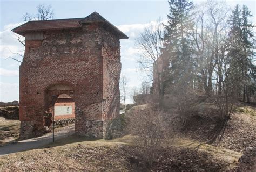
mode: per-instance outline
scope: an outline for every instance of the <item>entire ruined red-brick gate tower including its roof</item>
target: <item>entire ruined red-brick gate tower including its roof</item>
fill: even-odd
[[[12,31],[25,37],[19,67],[20,137],[42,135],[47,112],[58,119],[75,113],[77,135],[114,137],[120,127],[119,40],[128,37],[97,12],[29,21]]]

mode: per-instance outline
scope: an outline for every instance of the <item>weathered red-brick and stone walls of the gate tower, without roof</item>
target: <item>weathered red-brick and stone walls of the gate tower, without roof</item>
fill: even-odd
[[[103,122],[119,116],[119,39],[97,23],[47,31],[43,38],[26,41],[19,67],[20,136],[42,135],[52,96],[65,93],[79,111],[76,133],[103,137]],[[63,89],[51,90],[55,85]],[[89,130],[91,123],[98,130]]]

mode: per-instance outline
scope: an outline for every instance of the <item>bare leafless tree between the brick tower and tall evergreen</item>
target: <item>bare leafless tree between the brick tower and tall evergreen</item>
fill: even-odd
[[[161,55],[161,50],[164,47],[163,37],[165,28],[163,23],[159,20],[156,23],[150,24],[148,27],[144,28],[144,31],[140,33],[139,37],[136,39],[136,46],[139,49],[140,58],[138,60],[140,69],[146,70],[150,73],[150,77],[155,75],[154,79],[156,89],[154,89],[154,94],[160,97],[160,70],[159,70],[159,58]]]

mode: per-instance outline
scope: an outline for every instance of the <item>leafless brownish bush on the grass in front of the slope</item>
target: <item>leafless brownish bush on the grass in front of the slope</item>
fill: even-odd
[[[164,145],[165,123],[162,115],[162,112],[153,110],[152,107],[136,109],[127,114],[129,131],[135,136],[133,143],[140,148],[149,165],[156,160]]]

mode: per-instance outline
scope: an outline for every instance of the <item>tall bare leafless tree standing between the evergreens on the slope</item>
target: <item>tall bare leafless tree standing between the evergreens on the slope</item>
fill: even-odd
[[[198,77],[203,81],[208,96],[221,91],[221,66],[224,60],[227,38],[227,17],[230,9],[224,2],[208,0],[196,9],[195,27],[192,37],[197,49]],[[215,74],[214,74],[215,72]],[[214,78],[217,77],[217,78]]]

